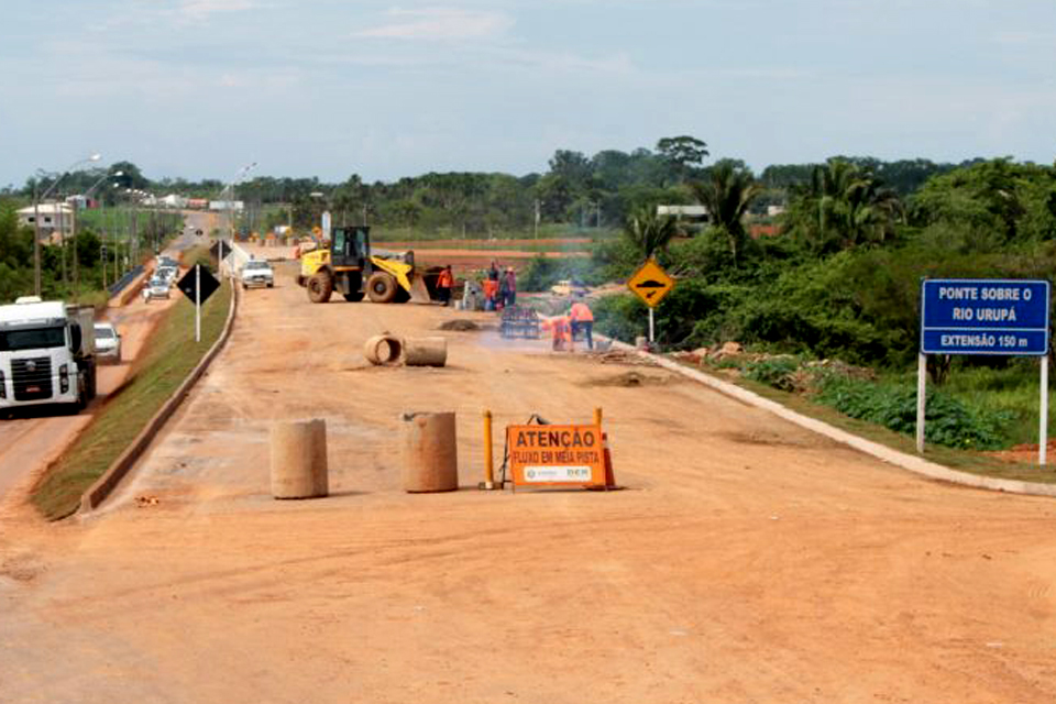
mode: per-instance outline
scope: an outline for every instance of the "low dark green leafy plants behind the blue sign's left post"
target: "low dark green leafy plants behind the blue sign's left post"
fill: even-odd
[[[815,400],[842,414],[901,432],[916,431],[916,389],[840,377],[824,380]],[[1012,415],[970,408],[942,392],[928,389],[925,439],[948,448],[998,450],[1008,444]]]

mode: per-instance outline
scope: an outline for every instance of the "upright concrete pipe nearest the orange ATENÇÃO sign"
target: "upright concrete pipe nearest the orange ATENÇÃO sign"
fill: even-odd
[[[459,488],[459,448],[454,414],[404,414],[404,491]]]

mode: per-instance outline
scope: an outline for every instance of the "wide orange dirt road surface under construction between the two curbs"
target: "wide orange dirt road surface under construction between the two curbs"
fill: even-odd
[[[1056,701],[1053,502],[920,480],[660,370],[438,333],[454,310],[312,306],[288,276],[248,293],[102,512],[4,525],[0,701]],[[382,330],[444,334],[450,365],[367,367]],[[482,409],[595,405],[625,491],[471,488]],[[404,494],[399,414],[444,409],[465,487]],[[270,425],[311,417],[332,496],[275,502]]]

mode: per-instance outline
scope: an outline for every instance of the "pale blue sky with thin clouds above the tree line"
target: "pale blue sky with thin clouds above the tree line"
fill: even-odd
[[[150,178],[711,160],[1056,158],[1054,0],[14,0],[0,187],[89,153]]]

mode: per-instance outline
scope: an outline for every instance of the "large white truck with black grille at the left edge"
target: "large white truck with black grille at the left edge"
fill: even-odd
[[[94,309],[24,296],[0,306],[0,413],[96,396]]]

